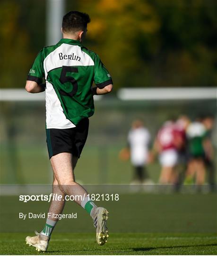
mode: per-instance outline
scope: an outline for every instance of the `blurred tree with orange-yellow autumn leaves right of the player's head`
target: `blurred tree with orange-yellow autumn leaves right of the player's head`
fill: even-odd
[[[72,7],[69,1],[68,9]],[[159,29],[159,19],[151,5],[147,1],[89,0],[79,1],[78,10],[92,18],[85,45],[100,55],[113,76],[115,88],[144,86],[149,76],[144,55],[155,53]],[[147,46],[144,55],[142,43]]]

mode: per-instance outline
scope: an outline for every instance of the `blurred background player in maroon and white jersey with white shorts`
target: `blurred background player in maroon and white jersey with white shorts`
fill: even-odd
[[[159,177],[160,184],[174,184],[177,181],[175,166],[178,163],[177,145],[181,143],[180,141],[180,136],[175,131],[174,119],[166,121],[159,129],[154,144],[162,166]]]

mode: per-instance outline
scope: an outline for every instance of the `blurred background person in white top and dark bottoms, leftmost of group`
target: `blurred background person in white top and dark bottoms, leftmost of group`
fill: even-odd
[[[123,148],[119,155],[122,160],[130,158],[134,167],[133,184],[152,183],[146,170],[150,139],[150,133],[143,122],[140,119],[134,120],[128,134],[128,146]]]

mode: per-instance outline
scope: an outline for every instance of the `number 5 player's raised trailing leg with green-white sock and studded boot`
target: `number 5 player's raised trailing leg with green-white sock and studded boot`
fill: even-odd
[[[80,184],[75,182],[71,162],[72,155],[70,153],[60,153],[52,156],[51,163],[54,175],[61,191],[69,196],[73,195],[76,203],[81,205],[90,214],[96,228],[96,241],[99,245],[104,245],[108,238],[108,230],[106,227],[108,211],[102,207],[96,207],[94,202],[87,196],[87,191]]]

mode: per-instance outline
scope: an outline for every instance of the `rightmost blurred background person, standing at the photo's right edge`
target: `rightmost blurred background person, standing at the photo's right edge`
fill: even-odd
[[[206,128],[206,134],[204,139],[204,151],[205,151],[205,166],[208,174],[208,183],[210,191],[215,191],[215,164],[214,164],[214,146],[212,139],[212,131],[214,126],[214,119],[211,116],[207,116],[202,120],[203,125]]]

